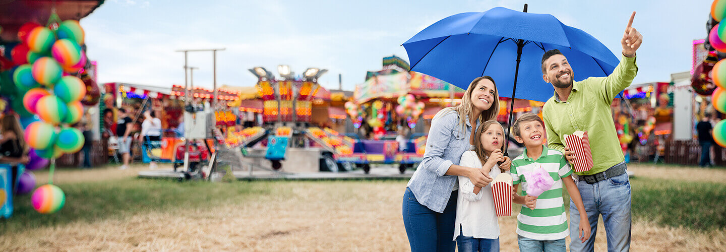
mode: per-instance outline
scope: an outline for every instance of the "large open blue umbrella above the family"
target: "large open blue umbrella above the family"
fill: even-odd
[[[492,76],[500,96],[545,102],[555,89],[542,80],[544,52],[559,49],[575,81],[608,76],[619,64],[613,52],[590,34],[552,15],[526,11],[526,4],[524,12],[495,7],[439,20],[403,44],[411,70],[462,89],[474,78]],[[511,121],[510,113],[510,125]]]

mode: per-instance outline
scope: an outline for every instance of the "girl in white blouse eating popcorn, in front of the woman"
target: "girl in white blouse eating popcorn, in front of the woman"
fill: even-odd
[[[504,161],[504,128],[497,121],[486,121],[472,137],[474,150],[461,156],[461,166],[481,167],[494,179],[501,173],[497,163]],[[484,165],[482,165],[484,164]],[[494,214],[492,185],[477,187],[466,176],[459,176],[454,240],[459,251],[499,251],[499,224]]]

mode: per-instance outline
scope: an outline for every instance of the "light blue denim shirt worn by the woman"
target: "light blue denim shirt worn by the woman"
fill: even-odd
[[[454,190],[457,176],[445,175],[452,164],[458,165],[461,155],[471,149],[471,123],[466,118],[466,132],[459,125],[454,111],[436,116],[428,130],[423,161],[409,180],[408,187],[416,200],[429,209],[443,213]]]

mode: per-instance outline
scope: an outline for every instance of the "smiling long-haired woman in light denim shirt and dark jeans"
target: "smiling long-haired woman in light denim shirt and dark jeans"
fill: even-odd
[[[412,251],[454,251],[457,176],[467,176],[477,187],[492,182],[480,168],[458,164],[465,151],[473,150],[471,129],[498,113],[497,86],[483,76],[471,81],[460,105],[433,117],[423,162],[404,192],[403,218]],[[506,158],[499,167],[509,170],[511,164]]]

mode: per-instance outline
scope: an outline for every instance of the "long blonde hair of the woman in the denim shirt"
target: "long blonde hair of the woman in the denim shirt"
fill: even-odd
[[[481,115],[479,115],[478,121],[491,121],[494,120],[494,118],[497,118],[497,114],[499,114],[499,91],[497,91],[497,84],[494,83],[494,78],[490,76],[481,76],[475,78],[473,81],[471,81],[471,84],[469,84],[469,88],[466,89],[466,92],[464,92],[464,97],[461,97],[460,105],[457,105],[455,107],[446,107],[443,110],[440,110],[439,113],[436,113],[433,118],[436,119],[440,116],[446,115],[447,113],[456,112],[459,115],[459,125],[461,126],[461,131],[462,133],[465,133],[466,116],[471,115],[474,111],[474,104],[471,102],[471,93],[474,92],[476,84],[484,79],[492,81],[492,84],[494,84],[494,102],[492,102],[492,107],[489,107],[488,110],[481,111]]]

